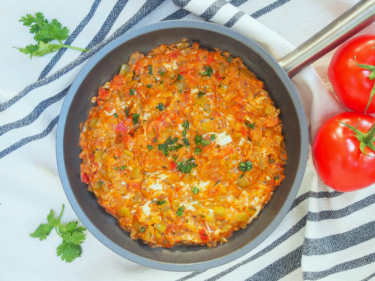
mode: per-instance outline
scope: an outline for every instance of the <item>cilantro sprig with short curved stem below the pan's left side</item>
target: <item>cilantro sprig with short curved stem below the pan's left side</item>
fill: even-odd
[[[86,239],[86,234],[83,233],[86,230],[84,226],[78,226],[77,221],[71,221],[67,224],[60,223],[60,219],[64,212],[64,204],[61,209],[58,218],[55,217],[53,210],[49,211],[47,216],[48,223],[39,224],[30,236],[33,238],[39,238],[40,241],[47,238],[52,229],[55,228],[56,233],[63,239],[63,242],[57,246],[56,254],[60,256],[62,260],[70,263],[75,258],[80,257],[82,254],[81,244]]]

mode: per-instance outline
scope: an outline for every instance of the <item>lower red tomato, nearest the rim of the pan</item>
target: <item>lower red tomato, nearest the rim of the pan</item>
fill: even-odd
[[[326,121],[314,139],[312,156],[318,175],[326,185],[338,191],[354,191],[375,183],[375,157],[363,154],[353,131],[335,121],[356,127],[359,118],[358,130],[367,133],[374,124],[374,117],[345,112]],[[375,156],[367,146],[364,152]]]

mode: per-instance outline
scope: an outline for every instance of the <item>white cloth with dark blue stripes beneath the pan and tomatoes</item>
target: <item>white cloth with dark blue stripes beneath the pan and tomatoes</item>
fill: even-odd
[[[31,3],[32,2],[32,3]],[[8,1],[0,4],[0,257],[1,280],[371,280],[375,278],[375,186],[340,193],[324,185],[309,153],[303,183],[278,228],[245,256],[204,272],[166,272],[130,262],[87,232],[80,259],[55,255],[57,235],[31,239],[49,209],[65,203],[63,220],[77,219],[55,160],[56,124],[75,76],[105,45],[131,28],[172,19],[222,24],[258,42],[276,59],[290,52],[356,1],[350,0],[83,0]],[[5,12],[6,11],[6,12]],[[60,49],[30,60],[12,46],[31,43],[17,22],[43,12],[68,26]],[[371,25],[364,32],[375,32]],[[330,93],[329,54],[292,79],[310,129],[345,111]],[[119,62],[121,63],[121,62]],[[343,175],[345,176],[345,175]]]

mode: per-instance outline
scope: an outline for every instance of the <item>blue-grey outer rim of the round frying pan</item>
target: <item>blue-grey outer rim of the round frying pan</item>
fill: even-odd
[[[118,46],[122,45],[123,43],[127,42],[130,39],[133,39],[141,34],[150,33],[157,30],[163,29],[170,29],[170,28],[197,28],[203,30],[210,30],[217,33],[222,33],[226,36],[232,37],[236,40],[239,40],[245,43],[248,46],[251,46],[256,52],[260,53],[269,64],[275,69],[276,74],[281,79],[282,83],[284,84],[285,88],[290,94],[291,100],[293,105],[297,111],[299,129],[301,133],[301,146],[300,146],[300,159],[298,170],[296,172],[296,176],[291,187],[291,190],[287,196],[287,199],[284,202],[284,205],[278,212],[278,214],[273,218],[271,223],[254,239],[252,239],[249,243],[244,245],[242,248],[239,248],[236,251],[233,251],[225,256],[218,257],[216,259],[204,261],[204,262],[196,262],[196,263],[169,263],[169,262],[159,262],[155,260],[148,259],[146,257],[139,256],[137,254],[131,253],[126,249],[122,248],[121,246],[115,244],[110,238],[104,235],[87,217],[81,204],[78,202],[75,194],[72,190],[72,187],[69,183],[69,178],[65,168],[65,157],[63,153],[63,145],[64,145],[64,134],[65,134],[65,124],[66,118],[68,116],[69,109],[72,104],[72,100],[77,93],[77,90],[81,83],[83,82],[86,75],[90,72],[92,67],[95,66],[105,55],[110,53],[113,49],[117,48]],[[57,125],[57,136],[56,136],[56,158],[57,158],[57,166],[58,172],[60,175],[60,179],[65,191],[65,194],[71,204],[74,212],[77,214],[78,218],[81,222],[87,227],[87,229],[98,239],[102,244],[106,247],[110,248],[115,253],[119,254],[120,256],[131,260],[132,262],[138,263],[140,265],[148,266],[151,268],[166,270],[166,271],[204,271],[205,269],[213,268],[216,266],[223,265],[225,263],[231,262],[239,257],[242,257],[249,251],[253,250],[255,247],[261,244],[264,240],[266,240],[271,233],[279,226],[281,221],[284,219],[285,215],[287,215],[294,199],[296,198],[297,192],[299,187],[302,183],[303,175],[305,173],[306,163],[308,157],[308,127],[305,112],[303,110],[303,106],[301,100],[297,94],[296,89],[294,88],[291,80],[288,78],[287,74],[281,68],[281,66],[277,63],[277,61],[260,45],[254,42],[252,39],[238,33],[237,31],[231,30],[230,28],[224,27],[222,25],[214,24],[211,22],[204,22],[204,21],[197,21],[197,20],[172,20],[172,21],[162,21],[156,22],[153,24],[144,25],[139,28],[135,28],[133,30],[129,30],[123,35],[119,36],[117,39],[113,40],[112,42],[108,43],[108,45],[104,46],[100,51],[98,51],[93,57],[87,62],[87,64],[83,67],[83,69],[78,73],[77,77],[75,78],[74,82],[72,83],[71,88],[69,89],[68,94],[64,100],[60,118]],[[220,246],[217,246],[220,247]]]

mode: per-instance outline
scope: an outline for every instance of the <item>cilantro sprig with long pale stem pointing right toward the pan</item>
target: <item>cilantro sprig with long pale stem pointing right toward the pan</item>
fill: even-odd
[[[69,30],[63,27],[57,19],[52,19],[51,22],[48,22],[48,20],[44,18],[43,13],[35,13],[35,16],[26,14],[26,16],[21,17],[19,21],[23,22],[23,25],[30,27],[30,33],[35,34],[34,40],[37,44],[30,44],[25,48],[13,48],[20,50],[23,54],[29,55],[30,58],[34,56],[42,57],[43,55],[55,52],[61,48],[69,48],[81,52],[89,51],[89,49],[63,44],[62,41],[68,38]],[[53,40],[57,40],[58,44],[49,43]]]

